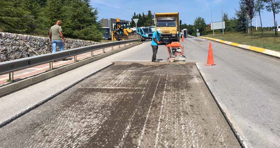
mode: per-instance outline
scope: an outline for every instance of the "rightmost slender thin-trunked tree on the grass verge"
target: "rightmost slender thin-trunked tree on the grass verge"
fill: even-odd
[[[269,12],[273,12],[273,18],[274,18],[274,28],[275,28],[275,35],[278,34],[277,32],[277,26],[275,21],[275,14],[278,14],[280,11],[280,0],[264,0],[265,3],[267,3],[267,6],[265,6],[266,10]]]

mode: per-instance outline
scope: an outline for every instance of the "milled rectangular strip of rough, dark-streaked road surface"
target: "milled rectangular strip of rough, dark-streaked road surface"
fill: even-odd
[[[0,137],[0,147],[240,147],[194,63],[111,66]]]

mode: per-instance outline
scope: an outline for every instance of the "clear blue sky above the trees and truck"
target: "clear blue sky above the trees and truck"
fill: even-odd
[[[117,18],[131,20],[134,12],[147,14],[148,10],[152,13],[163,12],[179,12],[179,17],[182,23],[193,24],[196,17],[203,17],[206,23],[211,22],[210,11],[213,10],[212,17],[213,22],[221,21],[221,0],[185,0],[176,2],[174,0],[128,0],[128,1],[116,1],[116,0],[91,0],[93,8],[98,8],[99,19],[102,18]],[[131,7],[131,9],[128,9]],[[229,17],[235,15],[235,9],[238,9],[238,0],[223,0],[223,12],[228,13]],[[214,9],[217,9],[214,11]],[[273,26],[273,13],[263,10],[261,13],[263,26]],[[280,24],[280,15],[277,14],[276,21]],[[252,25],[256,25],[255,19],[253,19]],[[257,18],[257,25],[261,26],[259,17]]]

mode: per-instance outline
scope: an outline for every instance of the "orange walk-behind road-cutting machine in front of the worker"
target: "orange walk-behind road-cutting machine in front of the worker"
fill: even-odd
[[[166,48],[169,54],[169,58],[166,60],[167,62],[185,62],[187,58],[184,54],[184,47],[179,42],[172,42],[171,44],[167,42]]]

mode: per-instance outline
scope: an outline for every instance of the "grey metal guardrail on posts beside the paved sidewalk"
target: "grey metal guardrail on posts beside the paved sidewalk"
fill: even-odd
[[[105,48],[112,47],[112,50],[114,46],[123,45],[123,44],[128,44],[134,43],[134,42],[139,42],[141,41],[140,39],[132,39],[132,40],[126,40],[126,41],[115,41],[115,42],[110,42],[110,43],[102,43],[102,44],[96,44],[96,45],[90,45],[90,46],[85,46],[85,47],[79,47],[79,48],[74,48],[74,49],[69,49],[69,50],[64,50],[64,51],[59,51],[55,53],[48,53],[44,55],[37,55],[34,57],[27,57],[27,58],[22,58],[22,59],[16,59],[12,61],[5,61],[0,63],[0,75],[4,75],[9,73],[9,79],[13,81],[13,72],[19,71],[22,69],[27,69],[30,67],[42,65],[45,63],[50,64],[50,69],[53,69],[53,62],[68,58],[68,57],[73,57],[75,61],[77,61],[77,55],[91,52],[91,56],[93,56],[93,51],[103,49],[103,53],[105,53]]]

